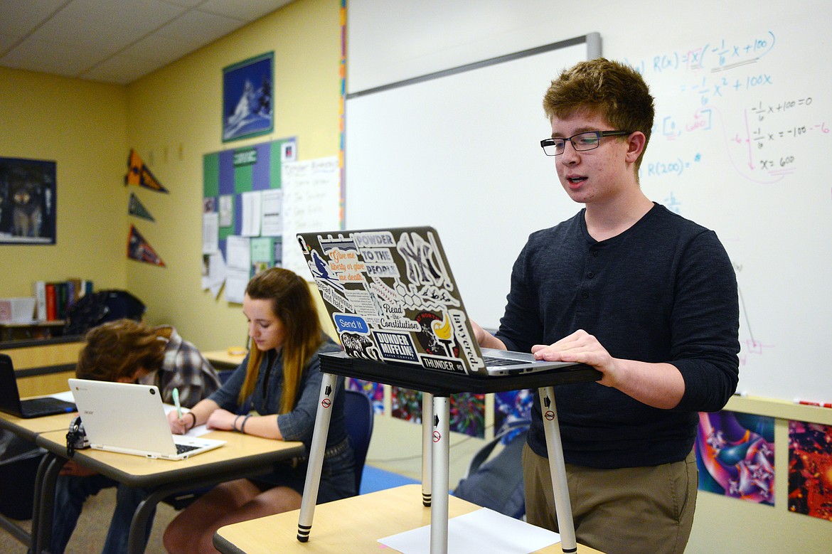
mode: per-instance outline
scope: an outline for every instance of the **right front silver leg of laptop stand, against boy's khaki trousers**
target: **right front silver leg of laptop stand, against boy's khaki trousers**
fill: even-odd
[[[555,494],[557,527],[561,533],[561,549],[563,552],[577,552],[575,522],[572,520],[572,504],[569,502],[567,486],[567,468],[563,462],[561,428],[557,423],[555,388],[542,387],[539,393],[543,411],[543,431],[546,434],[546,448],[549,453],[549,472],[552,475],[552,490]]]

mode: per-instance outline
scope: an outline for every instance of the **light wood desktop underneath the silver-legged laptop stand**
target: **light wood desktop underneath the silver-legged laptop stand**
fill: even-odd
[[[214,535],[214,546],[223,554],[366,554],[389,550],[378,542],[379,538],[430,523],[430,509],[419,502],[421,495],[419,485],[404,485],[321,504],[316,511],[317,526],[310,542],[295,539],[300,513],[295,510],[220,527]],[[457,497],[448,499],[450,517],[478,508]],[[561,552],[560,543],[536,552]],[[577,552],[600,554],[582,545],[577,546]]]

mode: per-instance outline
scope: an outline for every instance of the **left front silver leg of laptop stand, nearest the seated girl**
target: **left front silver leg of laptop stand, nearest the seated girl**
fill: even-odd
[[[310,532],[312,531],[314,504],[318,499],[320,471],[324,465],[326,437],[329,434],[329,419],[332,417],[332,410],[329,408],[332,408],[332,403],[335,398],[336,379],[337,377],[332,373],[324,373],[324,378],[320,383],[318,413],[314,420],[312,445],[309,453],[309,467],[306,469],[304,496],[300,501],[300,517],[298,518],[298,541],[300,542],[309,541]]]

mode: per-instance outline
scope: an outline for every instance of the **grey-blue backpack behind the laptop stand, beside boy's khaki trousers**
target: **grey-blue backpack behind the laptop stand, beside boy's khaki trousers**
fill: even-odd
[[[529,421],[510,423],[501,433],[474,454],[453,496],[520,519],[526,513],[522,482],[522,447],[526,443]],[[503,450],[488,460],[503,437],[515,433]],[[488,461],[487,461],[488,460]]]

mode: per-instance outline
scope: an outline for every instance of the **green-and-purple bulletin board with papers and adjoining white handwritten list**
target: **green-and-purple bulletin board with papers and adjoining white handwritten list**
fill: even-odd
[[[202,288],[241,303],[245,284],[280,266],[308,277],[295,234],[338,229],[337,157],[298,161],[285,138],[203,157]]]

